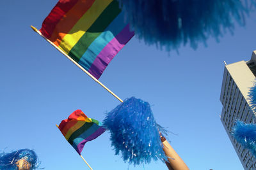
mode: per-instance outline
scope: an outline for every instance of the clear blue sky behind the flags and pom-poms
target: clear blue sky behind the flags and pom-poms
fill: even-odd
[[[103,120],[120,102],[31,30],[55,1],[0,1],[0,150],[33,148],[45,169],[88,169],[56,128],[72,111]],[[120,98],[152,104],[159,124],[178,135],[171,145],[190,169],[243,169],[220,121],[225,60],[249,60],[256,50],[256,13],[234,35],[197,50],[168,53],[137,38],[116,55],[100,81]],[[109,133],[82,152],[93,169],[167,169],[162,162],[129,166],[110,146]]]

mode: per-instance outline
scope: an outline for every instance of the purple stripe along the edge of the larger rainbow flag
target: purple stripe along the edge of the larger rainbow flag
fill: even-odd
[[[96,59],[93,61],[92,66],[88,70],[95,78],[99,79],[100,75],[108,66],[109,62],[115,57],[124,45],[134,36],[134,32],[130,31],[129,24],[124,27],[124,29],[119,32],[115,38],[109,41],[102,51],[97,55]]]

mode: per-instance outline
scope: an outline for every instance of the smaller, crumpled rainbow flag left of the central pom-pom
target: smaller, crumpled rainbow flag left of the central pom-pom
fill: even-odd
[[[81,110],[74,111],[67,119],[62,120],[58,128],[79,155],[86,142],[106,131],[99,121],[86,117]]]

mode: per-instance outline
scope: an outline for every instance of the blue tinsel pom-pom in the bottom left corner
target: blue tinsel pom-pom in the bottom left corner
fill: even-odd
[[[11,153],[0,153],[0,169],[1,170],[17,170],[16,162],[20,159],[26,159],[30,164],[30,169],[38,167],[38,158],[33,150],[22,149]]]

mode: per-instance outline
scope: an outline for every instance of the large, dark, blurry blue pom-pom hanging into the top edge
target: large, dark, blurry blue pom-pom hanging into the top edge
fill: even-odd
[[[118,0],[138,38],[166,50],[217,40],[234,22],[244,25],[255,0]]]

